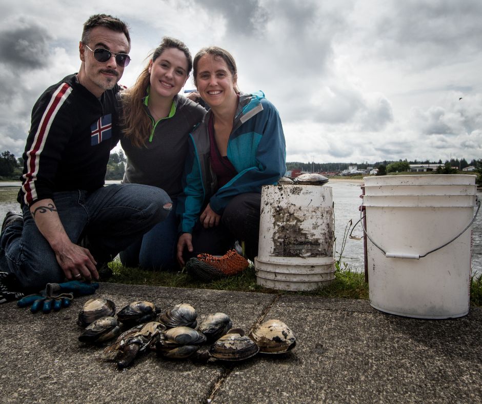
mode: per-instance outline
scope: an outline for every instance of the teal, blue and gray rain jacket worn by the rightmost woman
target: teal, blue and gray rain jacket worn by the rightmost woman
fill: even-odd
[[[241,93],[229,135],[227,156],[237,171],[217,189],[210,164],[209,111],[189,135],[189,151],[183,175],[183,193],[178,197],[179,232],[192,233],[201,210],[208,203],[222,214],[231,198],[246,192],[261,192],[263,185],[276,184],[286,173],[285,135],[279,114],[262,91]]]

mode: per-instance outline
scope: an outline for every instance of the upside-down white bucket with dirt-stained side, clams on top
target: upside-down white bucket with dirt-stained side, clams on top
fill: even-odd
[[[263,187],[254,266],[257,284],[268,288],[313,290],[332,282],[331,187]]]

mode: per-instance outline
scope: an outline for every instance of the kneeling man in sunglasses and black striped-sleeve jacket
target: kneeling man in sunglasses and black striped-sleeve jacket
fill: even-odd
[[[104,187],[110,151],[119,140],[117,82],[129,51],[124,22],[91,16],[79,43],[78,74],[37,100],[18,194],[23,214],[9,212],[0,235],[4,297],[65,278],[98,279],[113,256],[169,214],[171,200],[159,188]]]

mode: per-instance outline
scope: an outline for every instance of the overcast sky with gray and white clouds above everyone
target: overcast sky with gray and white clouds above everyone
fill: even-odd
[[[0,151],[21,156],[35,100],[78,70],[82,25],[104,12],[131,28],[126,86],[164,35],[229,50],[240,89],[278,109],[287,161],[482,158],[480,0],[99,3],[0,0]]]

